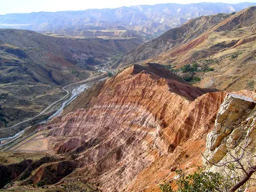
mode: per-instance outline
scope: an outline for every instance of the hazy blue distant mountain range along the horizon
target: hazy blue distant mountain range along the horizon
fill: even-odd
[[[256,3],[156,4],[67,12],[0,15],[0,28],[29,29],[59,35],[154,38],[190,19],[232,13]]]

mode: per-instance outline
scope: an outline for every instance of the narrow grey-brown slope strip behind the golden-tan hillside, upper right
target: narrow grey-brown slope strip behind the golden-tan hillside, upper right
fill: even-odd
[[[127,52],[117,63],[118,67],[147,60],[181,44],[186,44],[228,17],[230,15],[218,14],[189,20],[179,28],[170,29],[158,38]]]

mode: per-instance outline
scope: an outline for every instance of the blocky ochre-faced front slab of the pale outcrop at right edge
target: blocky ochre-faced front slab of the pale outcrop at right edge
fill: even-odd
[[[214,130],[207,135],[204,162],[217,164],[228,151],[237,147],[256,125],[256,118],[248,117],[255,108],[250,97],[228,93],[221,104]]]

